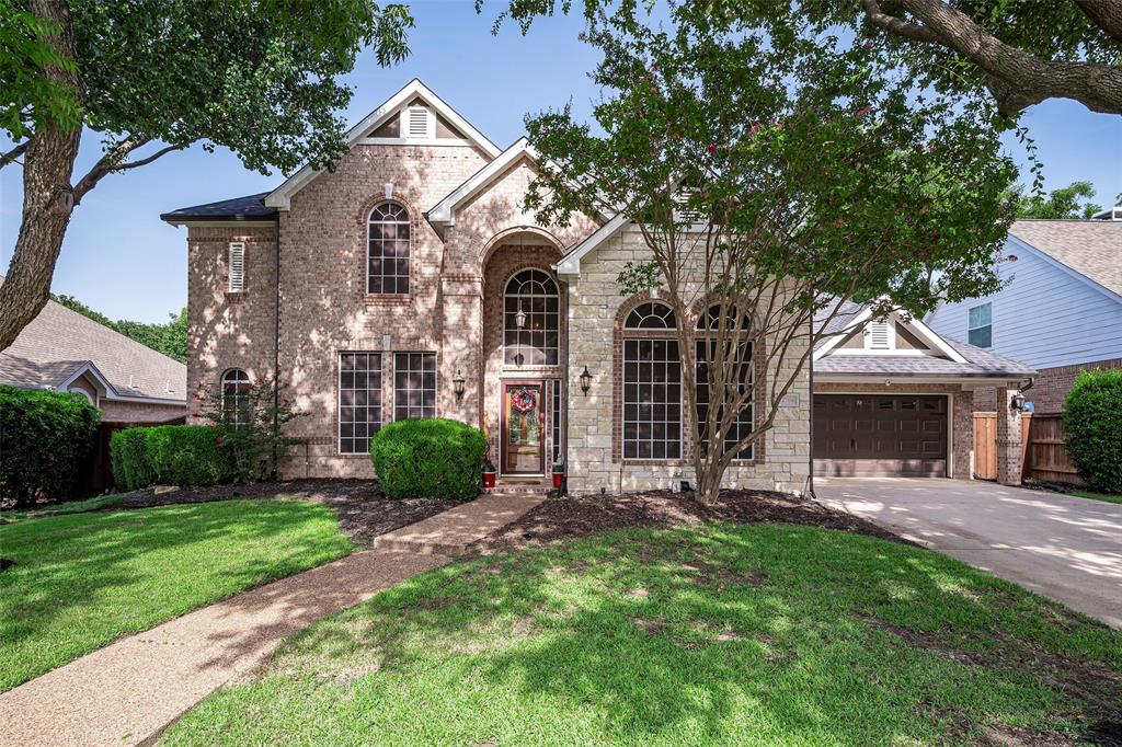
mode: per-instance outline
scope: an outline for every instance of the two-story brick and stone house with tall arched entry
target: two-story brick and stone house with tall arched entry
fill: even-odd
[[[498,148],[420,81],[348,139],[333,170],[304,168],[269,193],[162,216],[187,228],[192,382],[236,397],[245,382],[275,376],[303,414],[287,431],[301,442],[291,477],[369,477],[369,439],[381,425],[440,416],[482,427],[505,480],[541,479],[558,461],[574,492],[691,479],[674,330],[708,310],[697,305],[677,320],[655,293],[620,295],[619,271],[649,256],[636,227],[613,215],[537,223],[523,210],[537,169],[525,139]],[[909,334],[893,335],[893,349]],[[895,358],[873,344],[879,362],[902,366],[888,378],[913,386],[885,388],[876,368],[839,369],[833,384],[840,388],[830,391],[873,387],[940,399],[942,446],[925,455],[927,469],[912,467],[910,442],[902,451],[883,433],[877,443],[888,451],[866,455],[863,444],[854,458],[968,479],[969,469],[949,458],[941,468],[931,462],[951,431],[959,439],[950,418],[966,400],[951,402],[951,390],[968,390],[985,372],[913,376],[916,356],[967,365],[935,336]],[[800,352],[792,349],[785,365]],[[780,371],[763,370],[762,354],[756,360],[763,391]],[[1011,371],[988,376],[1015,386]],[[813,469],[811,408],[807,367],[774,427],[734,462],[726,483],[804,490]],[[760,411],[746,407],[741,425]],[[899,422],[881,417],[880,427],[899,425],[902,441],[908,428],[928,427],[921,423],[929,418],[911,417],[907,399],[899,412]],[[858,418],[856,427],[864,425]],[[963,435],[953,453],[969,441]]]

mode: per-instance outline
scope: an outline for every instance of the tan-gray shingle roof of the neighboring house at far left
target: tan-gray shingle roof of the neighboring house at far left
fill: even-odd
[[[101,371],[120,397],[186,402],[186,366],[54,301],[47,302],[11,347],[0,351],[0,384],[54,387],[86,362]],[[168,384],[172,391],[167,391]]]

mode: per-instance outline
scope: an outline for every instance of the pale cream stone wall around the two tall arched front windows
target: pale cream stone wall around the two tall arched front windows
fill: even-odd
[[[617,312],[627,299],[616,278],[627,261],[649,257],[634,229],[620,231],[581,262],[580,277],[569,280],[569,487],[577,494],[601,489],[645,490],[669,488],[678,480],[693,481],[684,460],[640,463],[613,457],[615,416],[615,340]],[[802,350],[793,348],[784,361],[764,374],[766,381],[791,376]],[[580,394],[585,366],[594,375],[587,396]],[[757,415],[758,416],[758,415]],[[727,487],[801,491],[810,474],[809,371],[798,374],[794,386],[779,406],[773,427],[764,435],[760,463],[734,464],[725,473]]]

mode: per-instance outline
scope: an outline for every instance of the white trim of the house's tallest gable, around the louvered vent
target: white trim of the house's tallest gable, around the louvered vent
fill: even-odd
[[[440,120],[443,119],[444,127],[450,128],[453,132],[462,135],[463,139],[466,139],[470,145],[479,148],[489,158],[495,158],[499,155],[500,150],[498,146],[487,139],[482,132],[472,127],[471,122],[463,119],[459,112],[449,107],[448,103],[433,93],[433,91],[419,79],[410,81],[405,87],[389,96],[385,103],[362,118],[358,125],[352,127],[347,132],[347,146],[349,148],[353,148],[362,141],[369,141],[371,145],[379,145],[379,140],[404,142],[408,145],[408,138],[384,138],[376,136],[379,133],[383,126],[385,126],[392,118],[401,113],[404,107],[417,100],[423,101],[432,109],[438,127],[440,126]],[[401,133],[398,133],[398,136]],[[438,141],[425,140],[423,142],[432,145]],[[315,169],[311,166],[304,166],[302,169],[285,179],[284,184],[278,186],[265,197],[265,206],[276,208],[277,210],[288,210],[292,195],[303,188],[304,185],[314,179],[316,176],[322,174],[323,170],[324,169]]]

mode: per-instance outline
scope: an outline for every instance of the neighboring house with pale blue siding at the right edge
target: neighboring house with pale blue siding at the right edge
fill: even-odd
[[[1063,411],[1080,370],[1122,367],[1122,220],[1111,220],[1122,210],[1101,215],[1014,222],[997,265],[1004,287],[927,320],[946,338],[1036,368],[1024,396],[1038,413]],[[976,391],[975,407],[994,411],[993,390]]]

